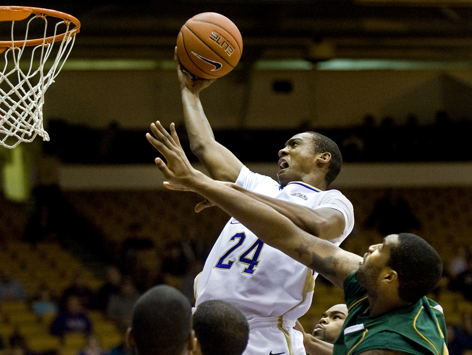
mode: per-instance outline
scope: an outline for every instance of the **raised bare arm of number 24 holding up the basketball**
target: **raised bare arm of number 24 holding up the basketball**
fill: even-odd
[[[220,181],[236,181],[243,163],[230,150],[215,140],[199,98],[200,91],[209,87],[216,79],[194,77],[185,71],[177,56],[177,49],[174,61],[180,82],[184,121],[190,149],[212,178]]]

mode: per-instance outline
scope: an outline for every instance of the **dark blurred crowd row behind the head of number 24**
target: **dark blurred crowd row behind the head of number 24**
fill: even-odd
[[[471,120],[452,120],[446,111],[437,111],[431,122],[420,124],[418,116],[410,114],[406,123],[398,124],[393,117],[366,114],[362,124],[355,127],[318,129],[307,122],[289,130],[232,129],[215,130],[214,134],[243,162],[276,162],[283,148],[280,142],[304,131],[317,131],[334,140],[346,162],[472,160],[472,142],[467,135],[472,129]],[[44,146],[46,153],[56,154],[63,163],[152,163],[157,153],[145,139],[146,128],[127,130],[116,122],[104,129],[92,129],[51,120],[48,132],[51,140]],[[178,126],[177,132],[187,156],[195,159],[189,151],[185,128]],[[86,145],[82,137],[87,137]],[[257,144],[257,149],[252,149],[252,144]],[[452,156],[450,151],[454,151]]]

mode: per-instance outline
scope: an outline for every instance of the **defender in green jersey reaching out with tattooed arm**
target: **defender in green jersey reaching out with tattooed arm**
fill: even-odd
[[[345,291],[349,315],[334,355],[445,355],[446,326],[441,307],[425,296],[442,275],[436,251],[419,236],[391,234],[364,257],[317,238],[272,207],[215,181],[190,165],[175,126],[169,134],[151,125],[147,139],[164,156],[156,164],[175,190],[190,190],[251,229],[264,243],[319,272]]]

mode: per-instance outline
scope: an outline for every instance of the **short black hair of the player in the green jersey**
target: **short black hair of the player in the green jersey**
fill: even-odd
[[[443,274],[439,254],[424,239],[410,233],[398,234],[388,266],[397,272],[398,293],[407,302],[416,302],[434,290]]]

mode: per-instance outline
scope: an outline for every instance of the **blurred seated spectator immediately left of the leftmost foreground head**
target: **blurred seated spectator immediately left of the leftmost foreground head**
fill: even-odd
[[[114,321],[119,329],[130,326],[134,303],[139,296],[133,280],[128,276],[123,277],[118,294],[110,296],[106,310],[107,317]]]

